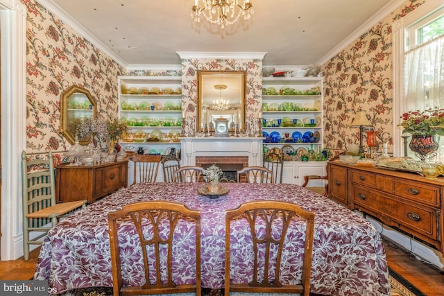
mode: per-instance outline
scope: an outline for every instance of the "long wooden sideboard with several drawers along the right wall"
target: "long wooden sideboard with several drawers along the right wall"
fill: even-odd
[[[443,250],[444,177],[384,168],[327,164],[329,198]]]

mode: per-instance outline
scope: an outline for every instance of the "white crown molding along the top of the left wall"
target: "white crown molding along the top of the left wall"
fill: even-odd
[[[76,19],[71,17],[67,14],[65,10],[60,8],[56,3],[54,3],[52,0],[37,0],[39,1],[42,6],[46,7],[47,9],[51,10],[53,13],[55,13],[58,17],[60,17],[63,21],[65,21],[66,24],[71,26],[77,33],[85,37],[89,42],[94,44],[98,49],[103,51],[106,55],[108,55],[112,60],[117,62],[121,65],[121,67],[125,68],[128,67],[128,64],[123,61],[118,55],[116,55],[113,51],[111,51],[108,46],[106,46],[103,42],[98,40],[91,32],[89,32],[84,26],[80,25]]]

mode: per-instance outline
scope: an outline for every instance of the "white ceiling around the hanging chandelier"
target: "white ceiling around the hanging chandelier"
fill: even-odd
[[[40,2],[58,10],[54,12],[74,28],[83,26],[101,42],[99,47],[128,66],[180,64],[177,51],[266,52],[268,65],[318,64],[404,0],[251,0],[251,19],[224,30],[205,20],[194,22],[194,0]],[[65,19],[60,9],[78,24]]]

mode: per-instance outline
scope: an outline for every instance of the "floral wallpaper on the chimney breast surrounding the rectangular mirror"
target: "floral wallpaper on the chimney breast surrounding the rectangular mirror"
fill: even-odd
[[[189,59],[182,60],[182,109],[185,132],[196,131],[198,70],[246,71],[246,121],[253,126],[262,107],[262,60],[256,59]],[[247,124],[248,125],[248,124]]]

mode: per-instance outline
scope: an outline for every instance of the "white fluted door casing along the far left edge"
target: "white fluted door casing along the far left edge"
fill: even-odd
[[[26,7],[0,0],[1,260],[23,255],[20,157],[26,148]]]

